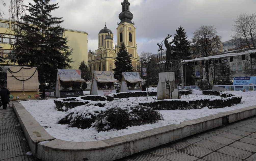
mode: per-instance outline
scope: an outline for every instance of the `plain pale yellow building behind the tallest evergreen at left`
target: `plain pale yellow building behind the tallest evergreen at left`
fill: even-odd
[[[8,54],[13,51],[12,44],[15,41],[15,34],[12,29],[14,28],[17,28],[15,22],[10,22],[6,19],[0,19],[0,46],[2,47],[0,48],[0,56],[4,58],[6,58]],[[73,53],[70,58],[72,58],[74,62],[70,65],[73,67],[73,69],[78,69],[82,60],[87,63],[88,33],[65,29],[63,36],[68,37],[67,45],[70,46],[70,48],[73,48]],[[4,63],[0,63],[0,66],[7,64],[10,64],[8,60]]]

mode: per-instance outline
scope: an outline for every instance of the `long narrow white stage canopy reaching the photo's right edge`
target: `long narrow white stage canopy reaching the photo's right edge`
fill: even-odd
[[[209,57],[202,57],[202,58],[196,58],[196,59],[191,59],[191,60],[185,60],[185,62],[234,57],[234,56],[239,56],[239,55],[247,55],[247,54],[251,54],[251,53],[255,53],[255,52],[256,52],[256,50],[248,50],[248,51],[239,52],[239,53],[227,53],[227,54],[221,54],[221,55],[213,55],[213,56],[209,56]]]

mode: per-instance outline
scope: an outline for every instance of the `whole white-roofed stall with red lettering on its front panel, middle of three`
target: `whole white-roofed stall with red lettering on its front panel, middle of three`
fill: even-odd
[[[115,93],[114,82],[118,82],[118,80],[114,78],[113,72],[93,71],[90,95],[108,95]]]

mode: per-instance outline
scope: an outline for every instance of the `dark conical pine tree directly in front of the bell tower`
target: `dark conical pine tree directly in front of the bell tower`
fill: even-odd
[[[121,44],[120,50],[117,53],[115,60],[115,78],[121,81],[122,72],[133,72],[132,60],[129,53],[127,52],[124,43]]]

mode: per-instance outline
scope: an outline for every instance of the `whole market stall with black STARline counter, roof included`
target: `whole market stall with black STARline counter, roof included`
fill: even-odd
[[[56,96],[55,97],[78,97],[83,96],[80,69],[57,69]]]

